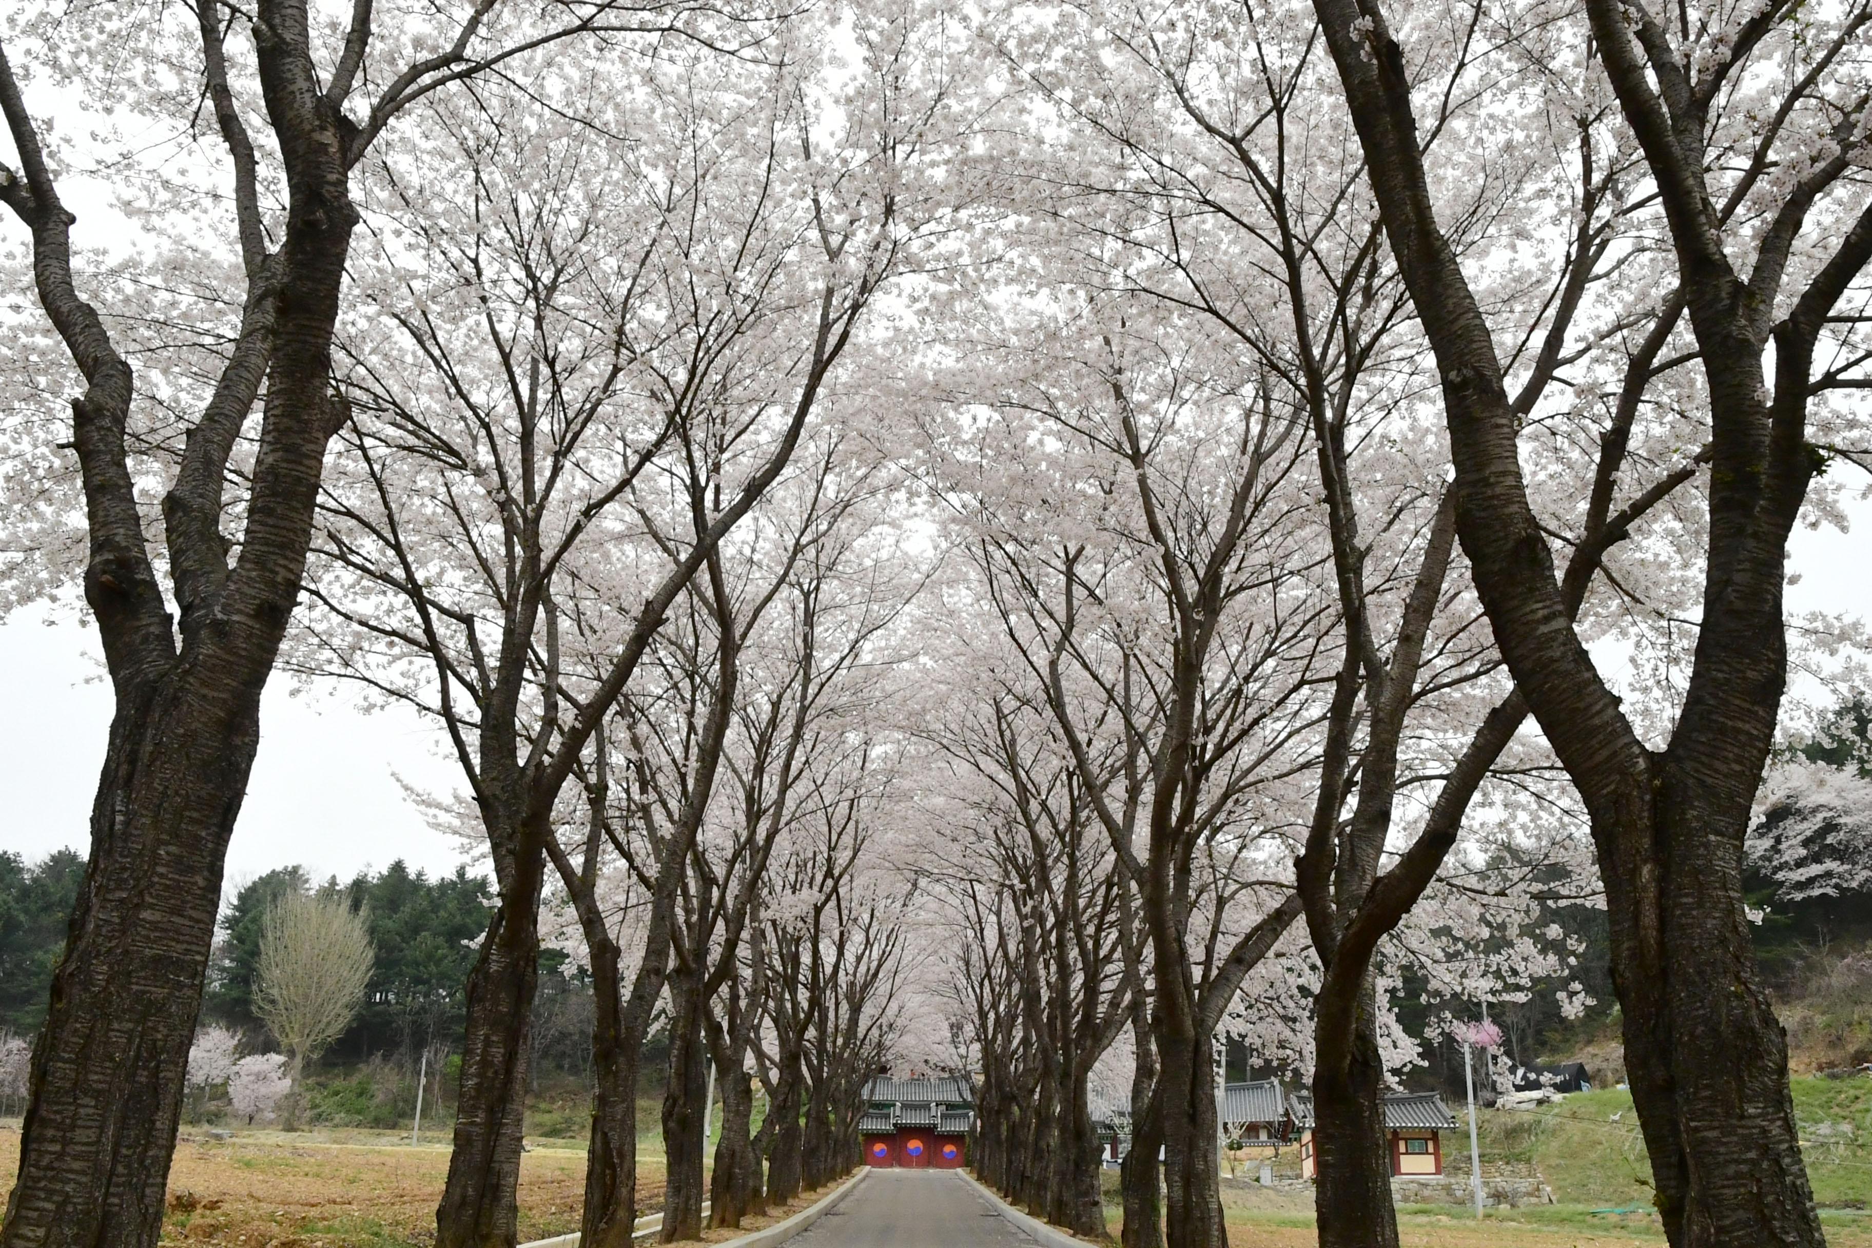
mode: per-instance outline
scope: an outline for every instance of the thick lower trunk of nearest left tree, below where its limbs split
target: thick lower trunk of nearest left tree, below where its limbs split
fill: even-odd
[[[178,670],[110,726],[92,859],[34,1048],[7,1248],[154,1248],[260,689]]]

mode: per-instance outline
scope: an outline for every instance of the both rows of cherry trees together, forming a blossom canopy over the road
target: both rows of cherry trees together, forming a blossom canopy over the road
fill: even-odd
[[[908,975],[1046,1216],[1104,1059],[1127,1242],[1224,1242],[1252,1031],[1389,1246],[1391,995],[1554,973],[1556,900],[1672,1242],[1821,1242],[1741,864],[1863,458],[1865,0],[6,22],[11,595],[82,574],[116,694],[7,1248],[159,1235],[275,666],[432,717],[492,863],[440,1244],[515,1239],[552,939],[588,1244],[653,1027],[674,1239],[706,1068],[732,1226],[856,1162]]]

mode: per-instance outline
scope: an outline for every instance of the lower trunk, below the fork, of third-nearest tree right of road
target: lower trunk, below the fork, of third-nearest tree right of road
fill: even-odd
[[[1164,1241],[1174,1248],[1226,1248],[1215,1065],[1207,1035],[1161,1035],[1157,1113],[1164,1147]]]

